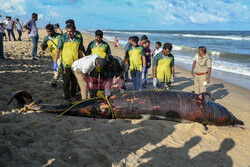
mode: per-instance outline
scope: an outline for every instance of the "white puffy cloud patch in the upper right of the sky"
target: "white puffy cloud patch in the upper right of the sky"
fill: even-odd
[[[217,0],[212,3],[207,0],[158,0],[147,3],[154,6],[159,17],[163,16],[169,24],[216,24],[250,18],[248,7],[238,0]]]

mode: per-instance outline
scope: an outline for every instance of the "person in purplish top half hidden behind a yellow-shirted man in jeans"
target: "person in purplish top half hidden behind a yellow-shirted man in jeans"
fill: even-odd
[[[146,58],[146,71],[143,73],[143,84],[142,84],[144,88],[146,88],[146,86],[147,86],[148,69],[151,66],[151,50],[150,50],[149,46],[150,46],[150,41],[147,40],[143,44],[143,48],[145,51],[145,58]]]

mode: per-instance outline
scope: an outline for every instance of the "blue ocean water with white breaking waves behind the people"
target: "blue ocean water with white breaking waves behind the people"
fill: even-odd
[[[94,35],[95,30],[83,32]],[[129,36],[147,35],[152,49],[155,42],[173,44],[175,64],[191,70],[199,46],[205,46],[212,58],[212,77],[250,90],[250,31],[131,31],[103,30],[104,38],[125,46]]]

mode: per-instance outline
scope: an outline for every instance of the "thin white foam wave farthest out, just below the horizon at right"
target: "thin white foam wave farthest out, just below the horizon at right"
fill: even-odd
[[[174,34],[175,36],[192,37],[192,38],[215,38],[215,39],[228,39],[228,40],[250,40],[250,37],[241,37],[235,35],[216,36],[216,35],[194,35],[194,34]]]

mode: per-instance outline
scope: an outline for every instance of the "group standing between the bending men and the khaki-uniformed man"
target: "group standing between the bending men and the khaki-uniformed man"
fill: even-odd
[[[140,42],[137,36],[129,37],[128,40],[129,42],[125,46],[125,64],[130,71],[133,89],[146,88],[148,69],[151,64],[153,66],[153,87],[169,89],[175,76],[174,56],[171,54],[172,44],[165,43],[161,49],[161,42],[156,42],[156,49],[152,51],[146,35],[141,37]],[[125,81],[127,80],[129,80],[128,72],[125,73]]]

